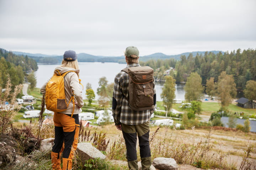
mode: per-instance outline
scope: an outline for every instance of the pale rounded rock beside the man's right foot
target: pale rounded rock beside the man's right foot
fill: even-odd
[[[161,170],[178,169],[176,161],[172,158],[155,158],[152,165]]]

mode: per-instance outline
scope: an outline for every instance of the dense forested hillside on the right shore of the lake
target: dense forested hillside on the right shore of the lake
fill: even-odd
[[[256,50],[248,49],[241,51],[205,52],[203,55],[189,54],[187,57],[182,55],[180,60],[150,60],[140,62],[142,66],[150,66],[155,70],[156,79],[164,79],[166,70],[173,67],[170,74],[174,76],[177,82],[187,81],[187,77],[192,72],[197,72],[202,77],[202,84],[211,77],[214,81],[218,80],[220,73],[233,75],[238,89],[244,89],[248,80],[256,80]]]

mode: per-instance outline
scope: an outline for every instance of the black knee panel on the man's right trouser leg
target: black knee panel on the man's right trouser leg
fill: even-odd
[[[139,147],[140,147],[140,158],[151,157],[150,147],[149,147],[149,131],[139,138]]]

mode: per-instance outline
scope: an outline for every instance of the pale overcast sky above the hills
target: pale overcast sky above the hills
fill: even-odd
[[[255,0],[0,0],[0,48],[121,56],[256,48]]]

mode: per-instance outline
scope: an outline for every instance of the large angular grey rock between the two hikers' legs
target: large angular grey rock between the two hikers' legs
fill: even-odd
[[[91,143],[87,142],[78,143],[77,152],[83,164],[85,164],[85,161],[89,159],[106,159],[106,156],[103,153],[92,146]]]

